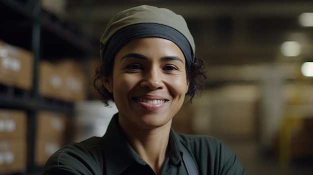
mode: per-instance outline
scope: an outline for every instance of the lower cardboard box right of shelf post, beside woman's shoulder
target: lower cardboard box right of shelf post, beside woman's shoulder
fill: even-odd
[[[35,143],[35,165],[42,167],[49,157],[63,146],[63,141],[55,137],[38,138]]]

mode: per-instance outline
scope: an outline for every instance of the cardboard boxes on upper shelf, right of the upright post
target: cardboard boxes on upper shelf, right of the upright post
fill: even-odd
[[[81,64],[72,59],[39,63],[39,94],[67,102],[85,99],[85,76]]]

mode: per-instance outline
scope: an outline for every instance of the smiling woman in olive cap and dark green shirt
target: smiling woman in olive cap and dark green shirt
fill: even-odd
[[[44,175],[246,175],[209,136],[178,134],[173,116],[204,85],[203,61],[182,16],[141,5],[116,14],[100,39],[94,86],[118,109],[103,137],[67,145]]]

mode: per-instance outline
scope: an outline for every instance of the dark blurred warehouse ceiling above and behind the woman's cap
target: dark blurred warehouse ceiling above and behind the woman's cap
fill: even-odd
[[[299,42],[301,56],[313,57],[313,27],[298,22],[302,12],[313,12],[312,0],[68,0],[66,11],[83,32],[100,38],[114,14],[140,4],[184,16],[196,57],[209,64],[277,61],[284,41]]]

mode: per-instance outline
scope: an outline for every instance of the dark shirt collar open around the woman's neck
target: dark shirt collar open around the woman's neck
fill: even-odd
[[[181,143],[178,142],[173,129],[169,134],[169,160],[177,165],[181,161]],[[139,155],[131,148],[118,124],[118,113],[111,119],[105,135],[102,139],[102,146],[105,155],[105,166],[107,175],[119,175],[127,169],[133,161],[146,165]]]

